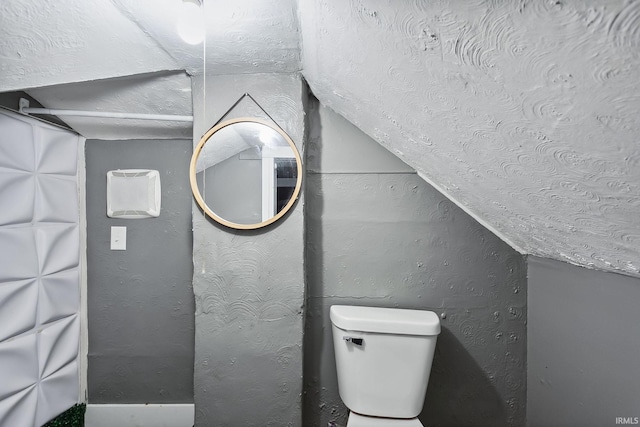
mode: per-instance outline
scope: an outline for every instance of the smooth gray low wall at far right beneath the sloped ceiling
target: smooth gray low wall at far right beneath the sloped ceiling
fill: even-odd
[[[536,257],[527,264],[527,424],[640,417],[640,279]]]

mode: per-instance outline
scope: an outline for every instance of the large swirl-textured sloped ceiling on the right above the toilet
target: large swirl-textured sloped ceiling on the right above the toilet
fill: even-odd
[[[315,95],[520,251],[640,275],[640,2],[303,2]]]

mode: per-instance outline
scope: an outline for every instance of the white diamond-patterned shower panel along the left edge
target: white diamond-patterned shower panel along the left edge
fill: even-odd
[[[79,399],[79,142],[0,110],[0,426]]]

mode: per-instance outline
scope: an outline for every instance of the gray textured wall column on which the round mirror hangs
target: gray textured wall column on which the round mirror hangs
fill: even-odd
[[[245,92],[302,152],[298,74],[193,79],[194,143]],[[226,118],[264,113],[245,98]],[[196,425],[299,426],[302,393],[303,200],[277,223],[234,231],[193,205]]]

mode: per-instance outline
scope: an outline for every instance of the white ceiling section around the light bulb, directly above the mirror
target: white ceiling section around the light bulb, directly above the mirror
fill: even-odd
[[[207,74],[300,69],[295,0],[203,0],[206,45],[195,46],[184,43],[176,32],[181,0],[111,1],[189,74],[203,72],[204,49]]]

